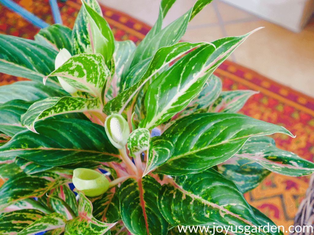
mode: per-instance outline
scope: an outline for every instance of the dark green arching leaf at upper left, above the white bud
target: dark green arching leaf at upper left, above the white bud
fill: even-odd
[[[53,24],[42,28],[34,38],[35,41],[46,40],[57,50],[65,48],[72,52],[72,30],[62,24]]]

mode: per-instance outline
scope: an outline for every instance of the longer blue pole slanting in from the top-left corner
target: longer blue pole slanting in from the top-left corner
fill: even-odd
[[[49,26],[48,23],[33,15],[29,11],[26,11],[20,5],[11,0],[0,0],[0,3],[2,3],[5,7],[11,9],[12,11],[18,13],[20,16],[22,16],[24,19],[26,19],[38,28],[46,28]]]

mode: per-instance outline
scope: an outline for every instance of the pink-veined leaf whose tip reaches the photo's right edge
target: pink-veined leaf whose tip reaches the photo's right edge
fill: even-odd
[[[269,137],[252,137],[234,155],[255,161],[269,171],[286,176],[304,176],[314,172],[314,163],[296,154],[276,148]]]

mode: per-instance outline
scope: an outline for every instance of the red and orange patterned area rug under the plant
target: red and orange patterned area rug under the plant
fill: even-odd
[[[21,6],[52,24],[48,0],[21,0]],[[80,0],[58,3],[64,24],[73,27],[80,9]],[[131,39],[139,43],[150,26],[117,10],[102,6],[103,14],[110,24],[116,40]],[[39,29],[0,5],[0,33],[33,39]],[[240,113],[253,118],[284,126],[297,137],[276,134],[272,137],[277,147],[313,161],[314,153],[314,99],[293,89],[267,79],[238,64],[225,61],[215,71],[223,81],[224,90],[252,89],[260,91],[251,97]],[[23,78],[0,74],[0,84],[9,84]],[[309,177],[287,177],[270,174],[246,200],[257,207],[278,226],[287,228],[293,224],[298,205],[304,198]]]

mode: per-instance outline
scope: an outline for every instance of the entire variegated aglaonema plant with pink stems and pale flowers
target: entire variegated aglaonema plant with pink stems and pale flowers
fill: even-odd
[[[161,28],[174,2],[161,1],[138,46],[114,40],[94,0],[83,1],[73,30],[0,35],[0,72],[31,80],[0,87],[1,234],[281,233],[254,230],[274,223],[243,193],[271,171],[302,176],[314,164],[266,137],[294,137],[284,127],[236,113],[255,91],[221,91],[213,75],[256,30],[179,42],[211,0]]]

